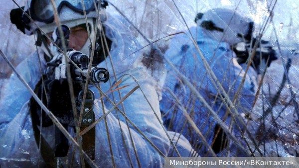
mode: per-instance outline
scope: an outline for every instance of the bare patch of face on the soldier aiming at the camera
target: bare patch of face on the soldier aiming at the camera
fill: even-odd
[[[48,33],[47,35],[49,37],[52,36],[52,33]],[[69,38],[69,48],[73,48],[74,50],[80,51],[84,44],[86,43],[88,39],[88,33],[87,30],[81,26],[76,26],[71,28],[70,32],[70,38]],[[48,41],[48,44],[50,44],[50,41]]]

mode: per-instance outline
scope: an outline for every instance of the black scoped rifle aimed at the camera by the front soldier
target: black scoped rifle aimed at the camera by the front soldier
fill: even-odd
[[[64,34],[65,44],[68,46],[70,29],[66,25],[62,25],[62,30]],[[58,29],[55,28],[52,37],[55,44],[63,49],[62,39],[58,32]],[[89,84],[95,83],[106,83],[109,80],[109,72],[105,68],[97,67],[97,59],[94,59],[91,64],[90,77],[87,79],[88,69],[89,69],[89,56],[83,54],[80,51],[66,48],[66,53],[61,53],[58,48],[53,47],[51,44],[52,52],[54,57],[46,64],[46,69],[43,72],[44,87],[41,82],[36,85],[35,92],[39,97],[43,97],[42,101],[47,104],[49,110],[58,118],[61,124],[68,129],[68,127],[75,126],[74,116],[72,112],[72,103],[70,92],[67,82],[67,73],[66,66],[70,65],[71,70],[71,79],[74,86],[74,94],[76,101],[76,109],[80,111],[83,104],[83,85],[86,81]],[[99,57],[99,45],[96,44],[94,58]],[[90,55],[91,55],[91,45],[90,45]],[[73,63],[66,62],[65,57],[68,57]],[[79,67],[79,69],[77,68]],[[46,93],[45,93],[46,92]],[[84,100],[83,107],[83,117],[81,120],[80,131],[91,125],[95,121],[95,114],[93,112],[93,102],[95,99],[94,92],[91,89],[87,89],[86,99]],[[36,107],[35,100],[30,101],[30,111],[32,120],[38,121],[41,117],[42,126],[50,126],[52,122],[47,119],[44,112],[40,112],[40,109]],[[35,104],[34,104],[35,103]],[[36,111],[35,113],[32,111]],[[38,122],[34,122],[38,123]],[[75,129],[74,129],[75,130]],[[38,131],[34,131],[38,132]],[[35,136],[36,137],[36,136]],[[82,136],[82,148],[94,160],[95,155],[95,128],[87,132]],[[61,131],[55,126],[55,157],[65,157],[67,156],[69,150],[68,140],[61,133]]]

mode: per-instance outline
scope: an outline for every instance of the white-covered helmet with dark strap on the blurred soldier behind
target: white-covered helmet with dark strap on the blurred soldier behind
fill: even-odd
[[[217,41],[223,37],[223,41],[230,45],[244,42],[244,38],[250,41],[254,30],[254,22],[250,18],[242,17],[234,10],[227,8],[214,8],[204,14],[199,13],[195,22],[203,28],[203,32],[208,37]]]

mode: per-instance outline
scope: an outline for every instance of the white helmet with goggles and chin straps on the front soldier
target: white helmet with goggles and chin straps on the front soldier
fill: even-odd
[[[94,35],[94,23],[97,18],[96,8],[101,5],[99,18],[102,22],[107,20],[107,14],[104,8],[108,5],[107,1],[101,0],[54,0],[59,14],[61,24],[68,27],[75,27],[81,24],[86,24],[84,16],[84,7],[87,15],[87,22],[89,24],[91,36]],[[22,9],[32,18],[32,20],[43,30],[44,33],[53,32],[57,26],[54,21],[54,12],[51,0],[28,0]],[[38,46],[50,56],[49,46],[43,40],[41,32],[37,26],[22,12],[21,9],[12,9],[10,12],[11,23],[27,35],[37,34]],[[43,42],[42,42],[43,41]],[[87,41],[88,43],[88,41]],[[84,54],[89,53],[89,44],[85,44],[81,49]]]

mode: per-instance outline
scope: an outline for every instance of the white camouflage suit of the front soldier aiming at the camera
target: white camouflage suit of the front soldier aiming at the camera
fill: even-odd
[[[141,88],[145,91],[145,96],[148,98],[150,105],[158,118],[154,115],[149,103],[140,89],[137,89],[131,96],[124,101],[124,107],[127,117],[145,134],[147,138],[159,149],[159,151],[167,156],[170,148],[170,142],[163,131],[158,120],[161,120],[159,110],[159,97],[156,92],[157,83],[148,75],[144,66],[140,64],[141,52],[134,53],[141,48],[139,43],[133,36],[130,35],[128,25],[122,23],[123,20],[109,16],[108,20],[103,23],[105,27],[106,37],[112,41],[110,49],[112,62],[114,64],[116,77],[120,80],[124,74],[134,76]],[[132,55],[131,55],[132,54]],[[45,68],[45,59],[43,52],[39,51],[42,69]],[[41,78],[39,65],[37,61],[37,52],[24,58],[17,66],[17,72],[25,79],[27,84],[34,89],[35,85]],[[107,62],[106,62],[107,61]],[[112,71],[110,59],[107,58],[98,65],[98,67],[107,68],[110,72],[110,80],[112,84],[116,84],[115,76]],[[108,66],[107,66],[108,65]],[[119,85],[125,86],[120,89],[121,96],[124,97],[137,86],[137,83],[131,76],[124,76],[122,83]],[[104,92],[110,88],[109,82],[101,84]],[[95,87],[91,87],[95,91],[96,99],[94,112],[96,119],[103,115],[99,91]],[[112,93],[107,93],[110,99],[113,100]],[[115,102],[120,100],[117,91],[114,92]],[[12,74],[8,83],[3,90],[3,96],[0,100],[0,167],[44,167],[45,163],[41,158],[38,146],[34,140],[32,130],[31,117],[28,112],[28,101],[31,95],[25,86],[19,81],[15,74]],[[104,97],[105,112],[113,107],[113,105]],[[121,105],[119,105],[121,108]],[[120,114],[118,114],[120,115]],[[131,143],[129,131],[124,117],[117,119],[116,111],[112,111],[106,117],[110,133],[111,146],[114,155],[116,167],[131,167],[128,154],[122,139],[121,129],[127,144],[132,166],[138,167],[137,157],[134,153]],[[129,124],[131,134],[134,140],[134,145],[138,154],[141,167],[163,167],[163,156],[161,156],[149,142]],[[46,138],[49,145],[54,148],[55,138],[53,137],[54,126],[42,127],[42,135]],[[74,133],[73,133],[74,135]],[[173,133],[169,132],[170,137]],[[181,137],[181,154],[189,153],[191,146],[186,139]],[[175,143],[175,142],[174,142]],[[78,150],[77,150],[78,151]],[[77,152],[78,154],[78,152]],[[76,155],[74,167],[79,166],[79,158]],[[96,147],[95,147],[95,163],[99,167],[112,167],[112,159],[106,133],[105,122],[102,120],[96,125]]]

